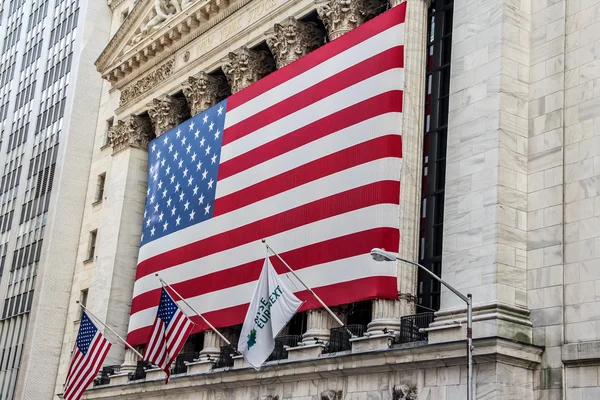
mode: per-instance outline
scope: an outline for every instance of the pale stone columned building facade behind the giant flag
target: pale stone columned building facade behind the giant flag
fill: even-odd
[[[57,378],[35,397],[62,392],[74,300],[85,293],[100,319],[127,332],[149,140],[406,6],[400,256],[473,295],[477,399],[600,398],[600,0],[108,6],[113,37],[96,62],[107,123],[96,131]],[[85,262],[91,240],[97,256]],[[213,365],[211,332],[167,386],[157,370],[131,380],[136,357],[114,346],[110,382],[85,398],[465,398],[464,304],[407,264],[398,293],[372,301],[367,334],[340,352],[319,344],[333,321],[307,312],[304,346],[259,372],[239,358]],[[436,313],[425,335],[397,337],[428,309]]]

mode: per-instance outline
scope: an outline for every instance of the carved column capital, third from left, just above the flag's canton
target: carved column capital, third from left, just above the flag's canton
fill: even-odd
[[[208,110],[229,95],[229,86],[222,76],[211,76],[200,72],[190,76],[183,84],[183,94],[190,106],[192,115]]]

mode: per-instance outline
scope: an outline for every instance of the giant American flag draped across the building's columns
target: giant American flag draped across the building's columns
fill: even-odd
[[[395,7],[150,143],[131,344],[156,315],[156,272],[216,327],[243,322],[263,238],[328,305],[397,298],[394,263],[369,251],[398,251],[404,16]]]

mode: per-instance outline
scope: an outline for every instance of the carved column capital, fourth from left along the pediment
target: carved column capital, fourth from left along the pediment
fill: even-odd
[[[264,51],[240,47],[221,60],[231,93],[237,93],[273,72],[273,60]]]

